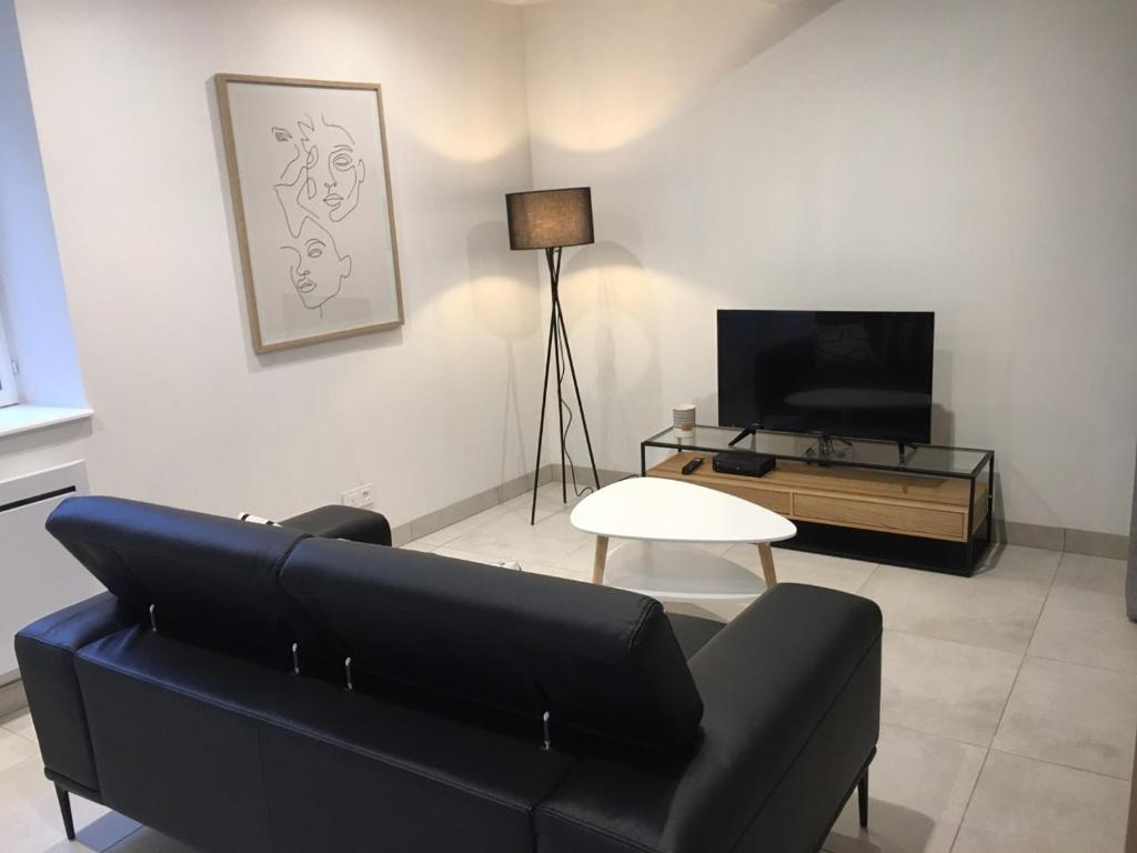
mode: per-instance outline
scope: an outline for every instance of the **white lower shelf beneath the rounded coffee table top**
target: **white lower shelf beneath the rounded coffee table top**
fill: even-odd
[[[727,557],[681,543],[628,541],[608,554],[604,582],[658,601],[753,601],[766,585],[754,571]]]

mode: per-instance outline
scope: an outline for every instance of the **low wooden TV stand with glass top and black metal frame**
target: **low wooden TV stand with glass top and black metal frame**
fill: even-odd
[[[649,467],[648,452],[661,450]],[[777,467],[761,478],[711,464],[681,473],[695,455],[728,450],[773,456]],[[782,547],[971,574],[991,539],[993,450],[698,425],[690,438],[664,430],[642,441],[640,467],[792,519],[798,535]]]

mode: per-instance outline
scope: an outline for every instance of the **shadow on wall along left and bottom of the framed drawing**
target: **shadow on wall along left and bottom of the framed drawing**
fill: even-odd
[[[252,349],[252,336],[249,330],[249,299],[244,281],[244,266],[241,263],[241,246],[236,237],[236,218],[233,213],[233,192],[230,184],[229,163],[225,158],[225,139],[221,129],[221,111],[217,106],[217,89],[213,77],[205,81],[206,101],[209,105],[209,123],[214,134],[214,156],[217,159],[217,181],[221,188],[222,201],[225,208],[225,220],[229,223],[229,248],[233,262],[233,283],[235,285],[236,308],[240,313],[240,328],[244,338],[246,363],[249,372],[287,366],[302,362],[334,357],[343,353],[393,347],[402,342],[402,330],[392,329],[377,334],[360,334],[340,340],[305,345],[296,349],[283,349],[276,353],[257,354]],[[396,220],[398,210],[396,210]],[[406,293],[404,292],[404,299]],[[404,310],[406,310],[404,308]]]

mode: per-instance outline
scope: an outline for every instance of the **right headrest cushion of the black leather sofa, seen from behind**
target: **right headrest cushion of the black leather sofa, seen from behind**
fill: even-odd
[[[377,678],[548,712],[554,732],[669,748],[698,731],[703,702],[655,599],[327,539],[297,544],[281,582]]]

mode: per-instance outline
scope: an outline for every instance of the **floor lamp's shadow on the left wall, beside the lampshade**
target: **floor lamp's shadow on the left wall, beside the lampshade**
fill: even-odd
[[[482,222],[466,234],[470,260],[470,298],[478,325],[501,341],[505,351],[505,388],[501,398],[501,463],[499,481],[513,471],[526,471],[523,404],[518,395],[517,345],[532,338],[540,328],[540,300],[532,285],[533,254],[509,251],[505,222]],[[531,372],[530,367],[530,372]],[[487,390],[492,387],[487,382]],[[528,392],[530,389],[523,389]],[[512,425],[512,430],[511,430]],[[533,425],[529,425],[533,429]],[[509,440],[509,433],[516,440]],[[512,449],[511,449],[512,445]],[[536,449],[534,449],[536,453]],[[511,464],[509,457],[513,456]]]

